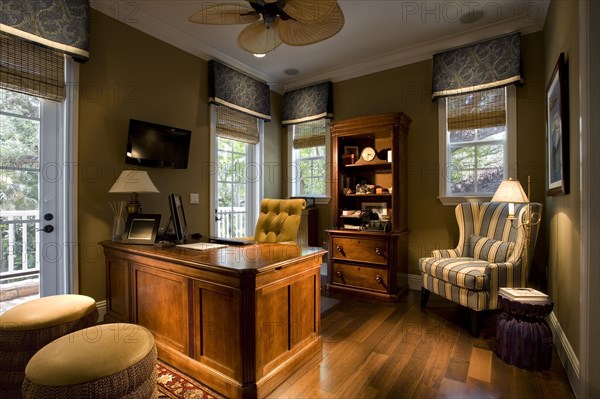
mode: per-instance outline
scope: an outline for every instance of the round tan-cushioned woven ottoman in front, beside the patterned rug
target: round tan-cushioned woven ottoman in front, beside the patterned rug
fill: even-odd
[[[23,398],[156,398],[156,346],[146,328],[102,324],[61,337],[29,361]]]

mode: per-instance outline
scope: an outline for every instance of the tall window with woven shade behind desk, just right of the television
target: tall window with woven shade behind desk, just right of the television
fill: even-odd
[[[264,122],[225,106],[211,107],[211,235],[247,237],[254,235],[258,201],[262,193],[261,142]]]

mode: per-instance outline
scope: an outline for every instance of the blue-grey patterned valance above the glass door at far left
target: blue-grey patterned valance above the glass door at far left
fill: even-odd
[[[0,0],[0,31],[85,61],[89,0]]]

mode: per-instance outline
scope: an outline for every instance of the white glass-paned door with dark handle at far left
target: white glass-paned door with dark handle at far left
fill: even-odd
[[[70,290],[63,111],[64,104],[0,89],[0,312]]]

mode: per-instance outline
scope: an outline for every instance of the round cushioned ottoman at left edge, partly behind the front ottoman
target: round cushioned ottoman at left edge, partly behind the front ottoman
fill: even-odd
[[[19,398],[25,366],[44,345],[96,324],[98,309],[84,295],[54,295],[15,306],[0,315],[0,398]]]

